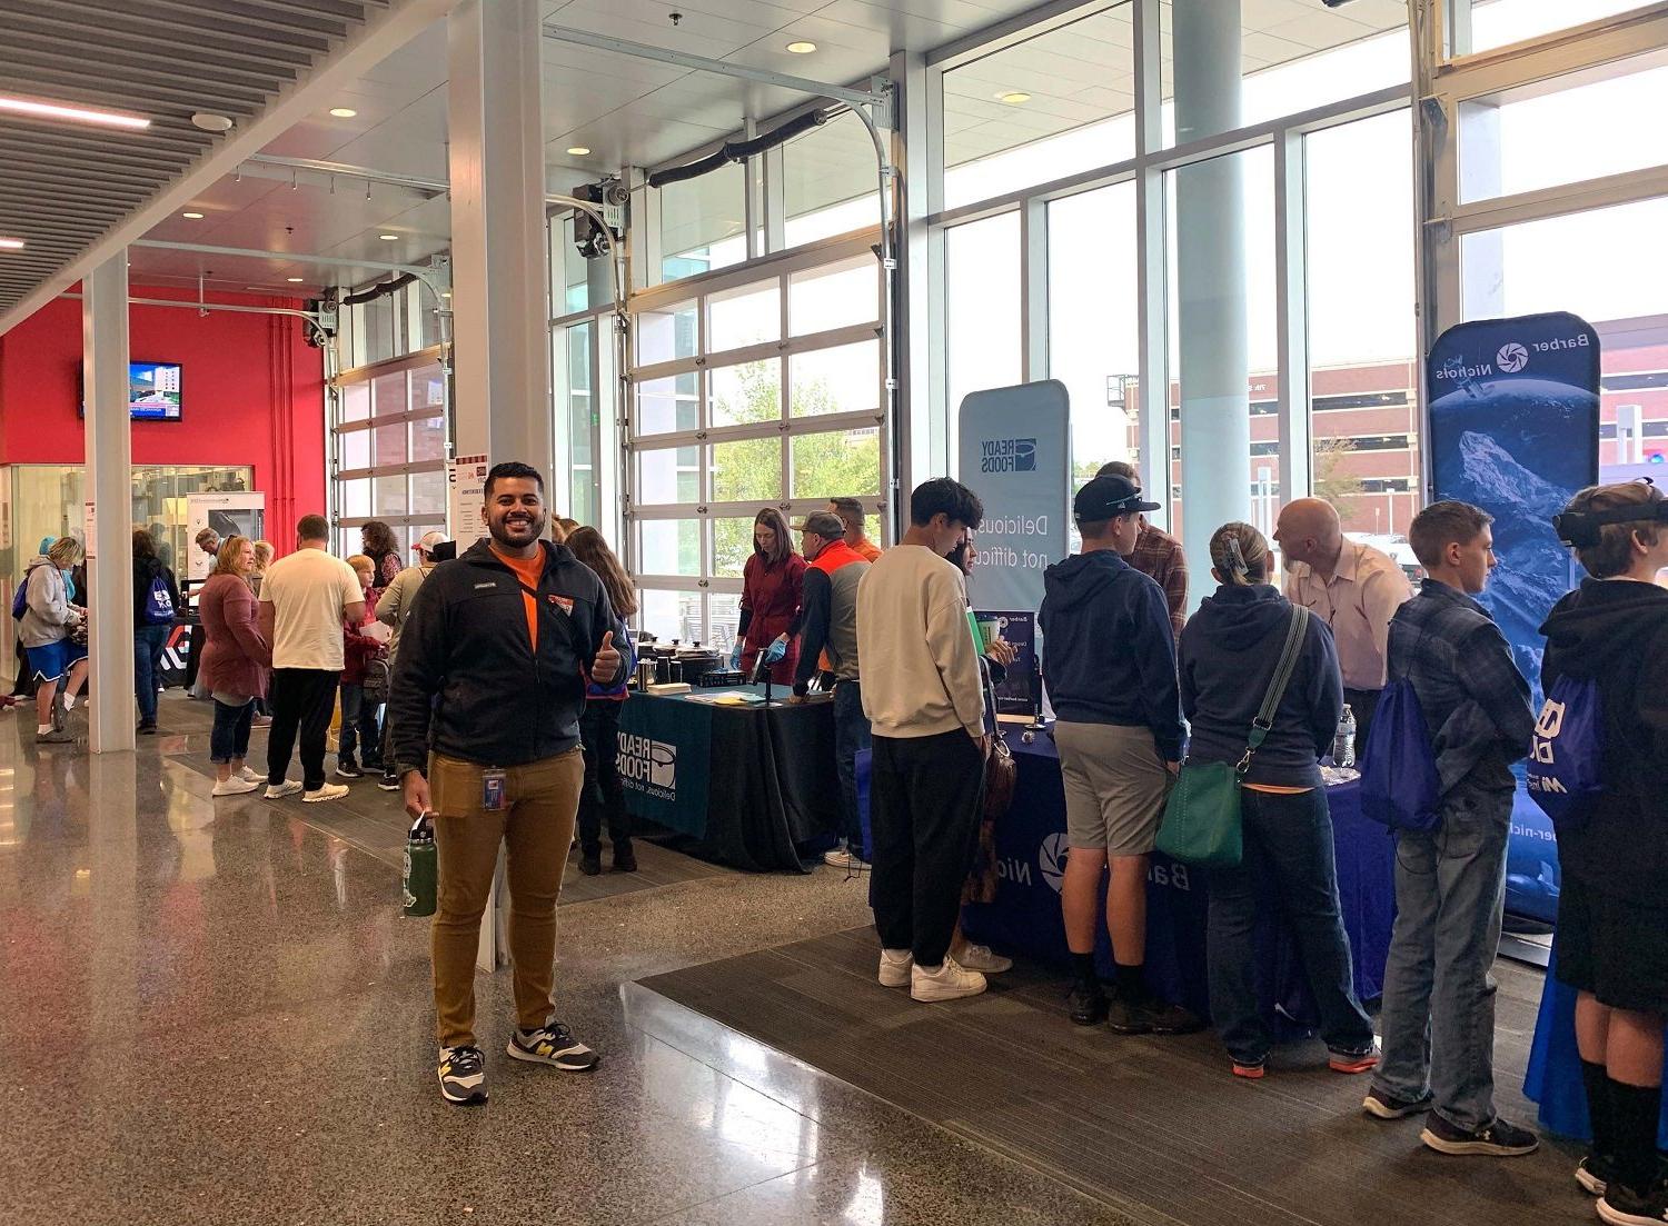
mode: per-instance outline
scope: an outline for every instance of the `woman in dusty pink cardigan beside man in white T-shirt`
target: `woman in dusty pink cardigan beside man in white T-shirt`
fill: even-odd
[[[229,537],[197,600],[203,634],[200,672],[214,696],[208,761],[215,764],[217,781],[212,796],[242,796],[265,779],[244,764],[255,699],[267,692],[272,667],[272,647],[260,637],[255,590],[249,585],[254,570],[255,545],[249,537]]]

